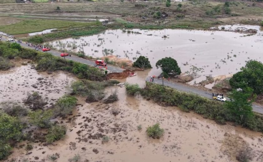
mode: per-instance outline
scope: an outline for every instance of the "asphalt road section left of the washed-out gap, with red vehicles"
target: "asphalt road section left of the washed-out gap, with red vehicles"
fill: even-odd
[[[6,40],[7,40],[6,38],[2,37],[2,41],[6,41]],[[23,47],[26,47],[26,48],[35,49],[35,47],[28,46],[25,43],[19,43],[19,44],[21,46],[23,46]],[[40,51],[42,51],[42,50],[40,50]],[[62,53],[62,52],[59,52],[59,51],[56,51],[56,50],[50,50],[50,51],[47,51],[47,52],[51,53],[54,56],[58,56],[58,57],[60,57],[60,54]],[[71,55],[71,57],[70,56],[66,56],[66,60],[73,60],[73,61],[80,62],[80,63],[83,63],[83,64],[88,64],[90,66],[95,66],[96,65],[95,61],[86,60],[86,59],[80,58],[80,57],[75,56],[75,55]],[[112,65],[107,65],[107,67],[108,67],[107,70],[109,71],[109,73],[114,73],[114,72],[120,73],[120,72],[122,72],[124,70],[124,69],[121,69],[121,68],[118,68],[118,67],[112,66]]]

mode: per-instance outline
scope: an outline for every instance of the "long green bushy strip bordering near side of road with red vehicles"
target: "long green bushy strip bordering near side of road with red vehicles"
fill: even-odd
[[[49,53],[21,48],[21,46],[17,43],[0,42],[0,59],[1,57],[3,57],[3,59],[14,59],[15,57],[20,57],[23,59],[34,60],[37,63],[36,69],[38,71],[53,72],[56,70],[64,70],[76,74],[80,79],[105,79],[103,72],[95,67],[74,62],[72,60],[66,60],[65,62],[63,59]],[[0,63],[0,67],[2,67],[2,69],[8,69],[10,64],[1,60]]]

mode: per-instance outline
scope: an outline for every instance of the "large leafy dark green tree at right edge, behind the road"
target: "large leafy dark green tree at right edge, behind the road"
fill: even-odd
[[[229,80],[231,87],[244,89],[250,87],[254,93],[263,93],[263,64],[259,61],[249,60],[245,67],[241,68]]]

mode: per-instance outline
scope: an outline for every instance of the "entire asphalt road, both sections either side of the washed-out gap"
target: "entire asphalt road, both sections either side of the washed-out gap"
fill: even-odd
[[[6,39],[3,37],[2,41],[6,41]],[[34,49],[34,47],[30,47],[30,46],[28,46],[28,45],[26,45],[24,43],[20,43],[20,44],[23,47]],[[51,53],[52,55],[55,55],[55,56],[58,56],[58,57],[60,57],[60,54],[61,54],[61,52],[55,51],[55,50],[50,50],[48,52]],[[73,61],[76,61],[76,62],[80,62],[80,63],[83,63],[83,64],[88,64],[90,66],[94,66],[95,65],[94,61],[86,60],[86,59],[80,58],[80,57],[75,56],[75,55],[71,55],[71,57],[67,56],[66,59],[67,60],[73,60]],[[123,71],[123,69],[115,67],[115,66],[111,66],[111,65],[107,65],[107,66],[108,66],[108,70],[110,72],[122,72]],[[150,82],[150,77],[146,78],[146,81]],[[153,83],[157,83],[157,84],[161,84],[162,85],[162,79],[154,79]],[[211,93],[207,93],[207,92],[199,90],[199,89],[183,86],[183,85],[176,84],[176,83],[167,82],[165,80],[163,81],[163,84],[165,86],[168,86],[168,87],[171,87],[171,88],[175,88],[175,89],[177,89],[179,91],[184,91],[184,92],[188,92],[188,93],[194,93],[194,94],[198,94],[200,96],[212,99],[212,94]],[[229,100],[229,98],[226,98],[226,99]],[[263,114],[263,107],[253,104],[252,108],[253,108],[254,112],[258,112],[258,113]]]

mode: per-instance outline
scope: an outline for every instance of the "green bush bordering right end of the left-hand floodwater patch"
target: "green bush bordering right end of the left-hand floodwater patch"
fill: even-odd
[[[62,96],[58,99],[55,104],[55,112],[58,115],[66,116],[72,112],[73,108],[76,106],[77,98],[73,96]]]

